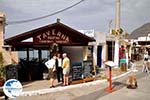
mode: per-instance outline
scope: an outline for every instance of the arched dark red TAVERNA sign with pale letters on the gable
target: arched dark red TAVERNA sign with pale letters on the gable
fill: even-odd
[[[57,29],[42,32],[33,38],[34,43],[69,43],[70,38]]]

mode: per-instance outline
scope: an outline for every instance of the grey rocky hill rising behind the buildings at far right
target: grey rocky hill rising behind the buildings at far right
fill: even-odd
[[[142,25],[141,27],[135,29],[130,35],[129,39],[137,39],[141,36],[147,36],[147,34],[150,34],[150,23],[146,23]]]

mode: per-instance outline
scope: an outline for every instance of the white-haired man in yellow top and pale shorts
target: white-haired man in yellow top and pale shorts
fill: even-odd
[[[63,75],[64,75],[64,82],[63,85],[69,85],[69,72],[70,72],[70,59],[67,57],[67,53],[63,53]]]

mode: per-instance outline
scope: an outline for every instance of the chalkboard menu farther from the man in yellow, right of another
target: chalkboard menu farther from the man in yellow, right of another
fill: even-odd
[[[93,61],[87,60],[83,61],[83,77],[84,78],[90,78],[93,76]]]

